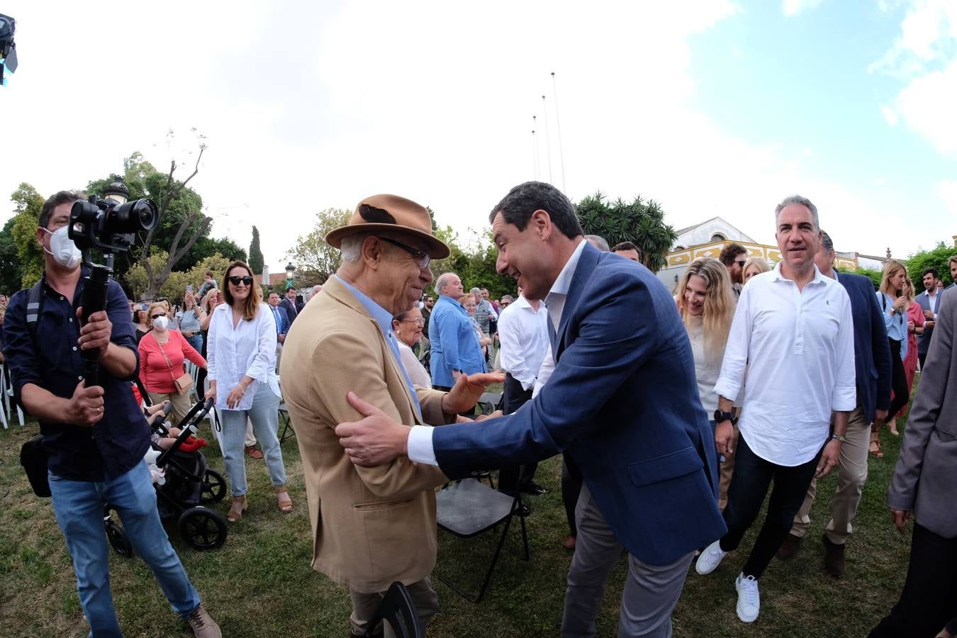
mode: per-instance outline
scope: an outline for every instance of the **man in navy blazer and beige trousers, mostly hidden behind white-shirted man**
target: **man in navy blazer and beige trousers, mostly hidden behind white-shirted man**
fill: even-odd
[[[847,441],[841,446],[837,461],[837,489],[831,501],[831,520],[822,542],[825,548],[824,567],[839,577],[844,573],[844,545],[853,531],[851,521],[867,480],[867,446],[871,424],[887,416],[891,403],[891,350],[887,329],[881,318],[874,284],[863,275],[838,274],[834,270],[835,246],[827,232],[821,231],[821,244],[814,255],[814,264],[821,275],[836,279],[851,298],[854,317],[854,359],[857,381],[857,407],[847,419]],[[812,479],[804,504],[794,516],[794,524],[785,539],[778,558],[790,559],[797,552],[801,539],[811,528],[811,506],[816,481]]]

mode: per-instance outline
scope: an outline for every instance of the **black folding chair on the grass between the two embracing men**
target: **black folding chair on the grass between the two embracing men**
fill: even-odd
[[[501,555],[501,547],[505,543],[505,536],[511,525],[512,517],[518,516],[522,507],[521,495],[506,495],[483,485],[475,478],[465,478],[453,483],[435,494],[435,517],[441,529],[460,539],[471,539],[484,532],[493,530],[502,525],[501,536],[495,548],[495,554],[485,573],[479,589],[479,596],[473,598],[456,584],[450,583],[437,574],[442,583],[446,583],[456,590],[463,598],[473,603],[481,602],[485,591],[492,580],[492,572]],[[525,519],[519,517],[522,523],[522,541],[524,548],[523,561],[528,560],[528,535],[525,530]]]

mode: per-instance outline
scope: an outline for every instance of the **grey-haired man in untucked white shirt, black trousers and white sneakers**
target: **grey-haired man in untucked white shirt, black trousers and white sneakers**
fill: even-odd
[[[771,272],[751,277],[742,291],[715,385],[719,453],[732,451],[731,409],[743,399],[723,514],[728,531],[696,564],[699,574],[708,574],[737,549],[773,480],[768,515],[735,582],[738,618],[745,623],[757,619],[758,579],[788,536],[812,478],[835,467],[848,413],[856,407],[851,300],[814,266],[821,241],[817,209],[794,195],[774,209],[774,217],[782,260]]]

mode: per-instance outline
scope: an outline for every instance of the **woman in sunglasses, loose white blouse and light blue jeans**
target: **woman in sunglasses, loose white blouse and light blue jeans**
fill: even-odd
[[[246,510],[246,463],[243,444],[246,420],[256,437],[276,487],[279,510],[291,512],[286,470],[279,448],[279,384],[276,378],[276,321],[262,302],[253,271],[241,261],[226,269],[224,303],[211,312],[207,343],[210,390],[222,425],[223,463],[233,485],[233,506],[227,518],[235,522]]]

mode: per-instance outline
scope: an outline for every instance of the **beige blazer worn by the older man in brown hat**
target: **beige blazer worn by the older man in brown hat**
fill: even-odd
[[[445,474],[404,456],[354,466],[335,434],[336,424],[362,418],[345,399],[349,390],[399,423],[422,423],[378,324],[338,278],[296,318],[279,372],[305,473],[312,566],[363,593],[428,576],[435,564],[434,487]],[[417,393],[427,423],[454,419],[442,413],[443,392]]]

